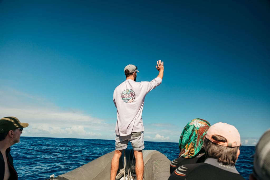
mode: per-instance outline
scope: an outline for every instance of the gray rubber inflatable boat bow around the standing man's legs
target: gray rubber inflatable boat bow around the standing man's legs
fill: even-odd
[[[105,154],[79,168],[68,173],[57,176],[57,180],[106,180],[110,179],[111,162],[114,151]],[[123,153],[124,154],[124,153]],[[123,159],[123,155],[122,155]],[[133,150],[126,150],[126,170],[135,165]],[[167,180],[170,176],[171,161],[161,152],[156,150],[143,150],[144,179],[145,180]],[[123,168],[123,161],[119,160],[119,169]],[[135,171],[134,171],[135,173]]]

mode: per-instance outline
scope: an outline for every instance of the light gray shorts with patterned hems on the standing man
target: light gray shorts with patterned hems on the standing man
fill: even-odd
[[[115,136],[115,150],[123,150],[127,148],[127,144],[131,142],[133,150],[140,151],[144,149],[143,131],[131,133],[127,136]]]

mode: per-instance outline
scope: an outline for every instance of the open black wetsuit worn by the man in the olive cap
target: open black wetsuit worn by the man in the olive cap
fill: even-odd
[[[10,148],[7,148],[6,159],[8,160],[8,168],[9,168],[9,173],[10,173],[9,180],[18,180],[18,174],[16,170],[14,169],[14,165],[13,165],[13,158],[9,152],[10,152]],[[4,175],[5,175],[5,162],[4,162],[3,155],[0,152],[0,180],[4,179]]]

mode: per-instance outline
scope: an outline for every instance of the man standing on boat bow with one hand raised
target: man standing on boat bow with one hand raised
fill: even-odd
[[[157,61],[158,76],[152,81],[136,82],[137,66],[129,64],[125,67],[126,80],[117,86],[113,93],[113,102],[117,108],[115,127],[115,152],[111,163],[111,180],[115,180],[119,167],[119,158],[130,141],[136,159],[135,171],[137,180],[143,179],[143,120],[144,98],[147,93],[161,84],[164,72],[163,62]]]

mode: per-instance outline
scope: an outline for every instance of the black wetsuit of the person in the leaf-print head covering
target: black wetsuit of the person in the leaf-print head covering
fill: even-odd
[[[179,166],[184,165],[184,164],[196,164],[196,163],[200,163],[200,162],[204,162],[205,160],[205,154],[199,154],[196,157],[193,158],[176,158],[171,162],[170,165],[170,171],[171,174],[174,172],[174,170],[176,170]]]

